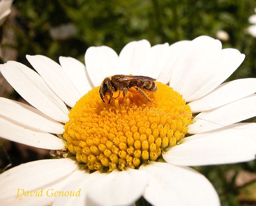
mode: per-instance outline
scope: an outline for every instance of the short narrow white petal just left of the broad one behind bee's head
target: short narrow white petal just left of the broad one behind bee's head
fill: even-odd
[[[72,57],[60,57],[60,65],[66,75],[83,96],[93,88],[93,83],[89,78],[85,65]]]

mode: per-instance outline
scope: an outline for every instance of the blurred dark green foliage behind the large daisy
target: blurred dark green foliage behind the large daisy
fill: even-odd
[[[147,39],[151,45],[172,44],[199,35],[216,38],[218,30],[225,30],[229,40],[222,42],[223,47],[239,49],[246,55],[229,80],[256,77],[256,39],[246,30],[248,17],[254,14],[255,7],[255,0],[16,0],[13,3],[13,9],[17,11],[15,24],[7,19],[2,27],[2,30],[14,31],[16,43],[2,44],[1,47],[15,49],[17,61],[29,67],[26,54],[42,54],[55,61],[59,56],[71,56],[84,63],[89,46],[107,45],[119,53],[126,43],[134,40]],[[77,34],[64,40],[52,39],[49,29],[66,23],[73,23]],[[12,98],[17,98],[17,94]],[[15,149],[8,152],[14,165],[31,161],[29,158],[19,159],[15,152]],[[3,156],[1,159],[5,163]],[[239,171],[256,172],[255,161],[195,169],[212,182],[222,205],[256,204],[256,197],[250,199],[245,195],[241,199],[241,191],[246,186],[239,188],[234,183]],[[234,172],[231,180],[226,178],[228,171]],[[256,193],[255,184],[248,190]]]

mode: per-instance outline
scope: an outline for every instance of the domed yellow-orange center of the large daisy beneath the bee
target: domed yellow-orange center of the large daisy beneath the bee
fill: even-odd
[[[156,105],[135,88],[127,93],[125,104],[122,92],[108,104],[100,99],[99,87],[89,91],[69,113],[66,148],[91,171],[138,168],[156,161],[165,148],[184,138],[192,117],[182,95],[162,83],[157,86],[157,92],[145,92]]]

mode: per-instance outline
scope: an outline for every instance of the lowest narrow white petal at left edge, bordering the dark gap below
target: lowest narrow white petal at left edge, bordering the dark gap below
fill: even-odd
[[[65,141],[40,130],[24,127],[13,120],[0,117],[0,137],[25,145],[44,149],[63,149]]]

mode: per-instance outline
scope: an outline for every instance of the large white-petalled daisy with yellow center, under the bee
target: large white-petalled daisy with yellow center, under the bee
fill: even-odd
[[[50,149],[62,159],[21,164],[0,175],[5,205],[219,205],[211,183],[188,166],[255,159],[256,79],[223,83],[243,62],[238,50],[200,36],[150,46],[130,42],[119,56],[90,47],[85,65],[29,56],[33,71],[8,61],[0,71],[32,106],[1,98],[0,136]],[[157,79],[157,92],[132,87],[101,100],[114,74]],[[197,114],[195,118],[192,113]],[[56,134],[56,135],[55,135]]]

